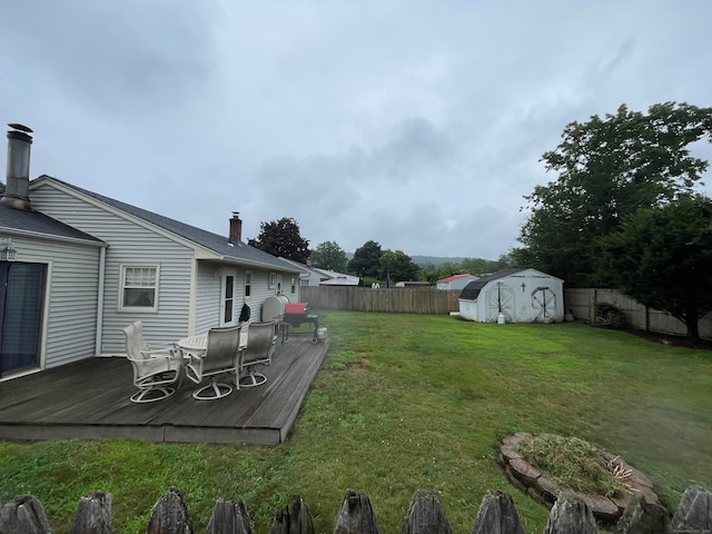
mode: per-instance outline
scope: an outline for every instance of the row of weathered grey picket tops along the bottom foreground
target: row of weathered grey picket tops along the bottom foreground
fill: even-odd
[[[635,497],[615,524],[617,534],[709,534],[712,532],[712,492],[690,486],[675,514],[670,517],[659,504]],[[174,487],[159,498],[148,526],[150,534],[194,534],[182,493]],[[253,534],[254,526],[243,501],[218,500],[207,534]],[[270,534],[314,534],[314,521],[298,496],[273,518]],[[502,492],[487,492],[482,501],[473,534],[524,534],[514,501]],[[596,534],[594,516],[582,500],[561,495],[551,508],[544,534]],[[0,533],[50,534],[41,503],[31,495],[0,507]],[[92,492],[83,496],[75,515],[71,534],[112,534],[111,495]],[[336,517],[335,534],[379,534],[368,496],[348,490]],[[434,492],[417,492],[405,515],[400,534],[452,534],[439,498]]]

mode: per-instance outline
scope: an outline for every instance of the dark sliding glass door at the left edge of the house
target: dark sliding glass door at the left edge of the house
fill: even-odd
[[[0,261],[0,376],[38,367],[46,266]]]

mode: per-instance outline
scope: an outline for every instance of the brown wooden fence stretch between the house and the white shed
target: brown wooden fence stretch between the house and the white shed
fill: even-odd
[[[310,308],[348,312],[447,315],[457,312],[456,290],[435,287],[390,287],[370,289],[359,286],[305,286],[301,301]]]

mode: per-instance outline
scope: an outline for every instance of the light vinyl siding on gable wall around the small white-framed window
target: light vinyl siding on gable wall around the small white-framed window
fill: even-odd
[[[192,249],[134,220],[79,200],[52,187],[32,190],[39,211],[109,244],[106,257],[102,354],[126,353],[122,328],[144,323],[149,345],[162,345],[188,335]],[[119,276],[123,264],[160,267],[158,312],[119,312]]]

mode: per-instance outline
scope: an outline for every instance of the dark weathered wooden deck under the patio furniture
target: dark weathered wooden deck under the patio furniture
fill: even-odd
[[[263,386],[218,400],[196,400],[184,379],[171,397],[134,404],[125,358],[90,358],[0,383],[0,438],[129,437],[149,442],[283,443],[324,356],[328,340],[293,336],[277,350]]]

